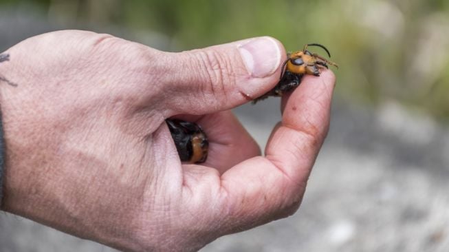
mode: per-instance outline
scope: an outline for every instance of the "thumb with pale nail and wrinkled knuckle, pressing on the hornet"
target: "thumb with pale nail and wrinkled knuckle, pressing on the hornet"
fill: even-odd
[[[241,105],[276,85],[284,58],[283,45],[268,36],[167,53],[167,107],[173,114],[210,114]]]

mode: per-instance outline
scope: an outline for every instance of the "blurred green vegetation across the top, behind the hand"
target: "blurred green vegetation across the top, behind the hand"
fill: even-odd
[[[174,51],[261,35],[274,36],[287,50],[322,43],[340,65],[340,98],[399,101],[449,118],[446,0],[0,0],[1,8],[19,5],[38,6],[43,17],[56,15],[51,21],[67,28],[114,25],[165,34]]]

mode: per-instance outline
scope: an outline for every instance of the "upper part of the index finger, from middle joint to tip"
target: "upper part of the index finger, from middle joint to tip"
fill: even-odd
[[[304,76],[303,83],[283,98],[281,125],[272,132],[266,157],[292,180],[307,180],[329,130],[335,75]],[[305,181],[304,181],[305,182]]]

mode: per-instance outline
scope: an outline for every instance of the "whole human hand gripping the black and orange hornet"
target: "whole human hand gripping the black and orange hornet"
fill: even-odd
[[[276,85],[267,37],[168,53],[62,31],[7,52],[2,209],[118,249],[193,251],[294,213],[329,126],[335,78],[305,76],[260,156],[229,109]],[[172,116],[203,127],[206,163],[179,161]]]

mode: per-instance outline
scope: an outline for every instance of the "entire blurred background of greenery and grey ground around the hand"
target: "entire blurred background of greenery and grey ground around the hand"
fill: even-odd
[[[0,0],[0,52],[61,29],[173,52],[267,35],[340,65],[299,211],[201,251],[449,251],[449,1]],[[261,147],[278,103],[234,109]],[[1,213],[0,251],[113,249]]]

